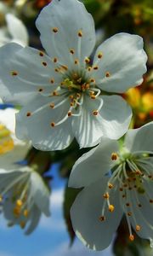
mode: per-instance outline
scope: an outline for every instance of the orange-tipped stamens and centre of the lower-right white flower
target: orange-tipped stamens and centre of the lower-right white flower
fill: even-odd
[[[112,167],[111,177],[108,182],[108,187],[105,189],[100,220],[104,221],[106,215],[106,206],[109,212],[116,210],[116,201],[111,202],[113,194],[117,195],[120,200],[120,206],[127,218],[127,226],[129,230],[129,240],[133,241],[133,231],[131,223],[135,231],[139,232],[142,229],[137,221],[137,214],[143,219],[146,226],[150,226],[148,219],[144,218],[140,208],[144,207],[144,201],[147,201],[152,207],[153,199],[151,198],[151,186],[153,176],[150,172],[153,168],[152,160],[153,152],[135,152],[133,154],[111,154],[111,160],[115,160],[115,165]],[[151,167],[151,168],[150,168]]]

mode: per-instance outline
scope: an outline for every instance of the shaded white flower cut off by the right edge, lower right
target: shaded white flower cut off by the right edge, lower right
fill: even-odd
[[[133,230],[153,238],[153,122],[127,131],[124,148],[105,138],[77,160],[69,186],[82,188],[71,207],[73,228],[89,248],[102,250],[111,243],[123,213],[129,240]],[[111,170],[111,172],[110,172]]]

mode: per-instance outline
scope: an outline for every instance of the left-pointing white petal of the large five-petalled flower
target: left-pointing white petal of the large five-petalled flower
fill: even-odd
[[[9,55],[9,61],[6,55]],[[54,63],[47,55],[40,55],[37,49],[22,48],[19,44],[11,43],[0,49],[0,58],[3,59],[0,67],[3,84],[22,105],[40,90],[42,93],[51,93],[61,81],[59,73],[54,71]],[[51,79],[54,79],[54,85]],[[3,101],[7,101],[5,96],[2,97]]]

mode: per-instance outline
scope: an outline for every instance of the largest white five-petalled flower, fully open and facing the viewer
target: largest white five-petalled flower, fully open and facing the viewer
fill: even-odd
[[[122,137],[131,108],[111,94],[142,83],[147,59],[142,38],[116,34],[99,45],[92,64],[94,20],[82,3],[53,0],[36,24],[48,55],[18,44],[0,49],[1,79],[23,106],[17,136],[42,150],[66,148],[74,137],[81,148],[100,137]]]

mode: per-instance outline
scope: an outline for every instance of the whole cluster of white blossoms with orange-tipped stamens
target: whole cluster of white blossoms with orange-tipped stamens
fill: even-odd
[[[108,247],[123,214],[130,241],[133,230],[151,241],[153,122],[128,130],[132,109],[121,96],[143,82],[143,39],[120,32],[95,49],[94,20],[77,0],[53,0],[36,26],[44,50],[14,42],[0,49],[0,96],[20,106],[16,137],[44,151],[67,148],[74,138],[80,148],[90,148],[69,179],[70,187],[82,188],[71,207],[71,222],[87,247]],[[18,163],[26,155],[15,154],[1,116],[3,212],[9,224],[24,228],[29,220],[28,234],[41,212],[49,215],[49,191],[40,173]]]

